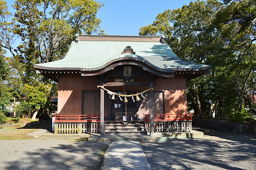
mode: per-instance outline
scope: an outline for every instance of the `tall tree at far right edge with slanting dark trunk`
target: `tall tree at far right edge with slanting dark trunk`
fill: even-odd
[[[237,111],[241,112],[244,96],[252,90],[256,71],[256,3],[254,0],[225,1],[226,6],[216,17],[216,28],[225,39],[231,61],[229,71],[237,92]],[[251,84],[248,86],[248,83]]]

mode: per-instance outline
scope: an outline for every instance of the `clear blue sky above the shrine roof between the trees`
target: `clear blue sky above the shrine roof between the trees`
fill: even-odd
[[[14,0],[7,0],[8,10],[12,13]],[[181,8],[191,0],[101,0],[104,4],[97,16],[101,19],[100,27],[106,35],[139,35],[140,27],[147,26],[159,13],[167,9]],[[15,46],[20,44],[17,39]],[[7,52],[6,57],[10,56]]]

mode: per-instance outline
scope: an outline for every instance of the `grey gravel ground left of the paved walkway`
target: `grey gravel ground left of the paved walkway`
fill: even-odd
[[[99,169],[110,142],[0,140],[0,169]]]

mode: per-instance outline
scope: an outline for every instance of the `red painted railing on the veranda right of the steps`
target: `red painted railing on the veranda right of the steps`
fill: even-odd
[[[144,113],[143,113],[144,114]],[[153,114],[154,121],[192,120],[192,114]],[[144,114],[145,121],[150,121],[150,114]]]

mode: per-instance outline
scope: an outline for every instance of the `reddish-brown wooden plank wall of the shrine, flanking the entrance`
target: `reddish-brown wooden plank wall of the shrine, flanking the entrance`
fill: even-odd
[[[137,81],[143,82],[144,79],[141,78]],[[107,87],[107,89],[122,91],[122,87]],[[149,87],[128,86],[126,89],[127,91],[143,91],[149,89]],[[83,90],[99,91],[97,79],[90,76],[81,79],[79,73],[64,74],[63,78],[59,80],[58,113],[66,115],[82,114]],[[181,74],[174,74],[174,77],[157,78],[154,91],[164,91],[165,114],[183,114],[187,112],[186,81]],[[139,110],[143,109],[139,108]]]

